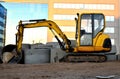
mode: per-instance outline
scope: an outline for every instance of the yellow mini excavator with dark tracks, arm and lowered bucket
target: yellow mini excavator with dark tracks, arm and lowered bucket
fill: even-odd
[[[48,27],[52,31],[60,48],[67,53],[62,59],[66,62],[84,61],[88,57],[90,61],[106,61],[106,54],[109,54],[112,45],[109,35],[104,34],[105,16],[102,13],[83,13],[81,15],[77,13],[75,23],[75,46],[72,46],[69,38],[54,21],[46,19],[20,21],[16,33],[16,45],[7,45],[2,50],[3,63],[18,63],[22,59],[24,29],[36,27]]]

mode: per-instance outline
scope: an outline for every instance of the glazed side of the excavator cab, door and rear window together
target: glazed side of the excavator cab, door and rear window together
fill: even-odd
[[[104,16],[102,14],[82,14],[80,32],[81,46],[93,46],[93,39],[99,32],[103,32],[105,27]]]

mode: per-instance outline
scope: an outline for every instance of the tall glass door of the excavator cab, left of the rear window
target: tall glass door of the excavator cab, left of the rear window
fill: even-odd
[[[93,25],[92,25],[92,15],[83,14],[81,15],[81,39],[80,45],[91,46],[93,38]]]

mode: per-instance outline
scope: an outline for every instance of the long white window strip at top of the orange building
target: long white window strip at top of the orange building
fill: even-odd
[[[112,4],[69,4],[69,3],[54,3],[54,8],[62,8],[62,9],[114,10],[114,5],[112,5]]]

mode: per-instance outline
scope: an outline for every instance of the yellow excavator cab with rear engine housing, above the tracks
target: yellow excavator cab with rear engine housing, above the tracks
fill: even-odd
[[[104,33],[105,17],[102,13],[84,13],[76,18],[76,52],[108,52],[111,40]]]

